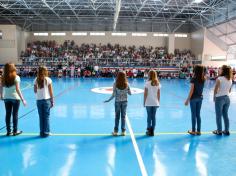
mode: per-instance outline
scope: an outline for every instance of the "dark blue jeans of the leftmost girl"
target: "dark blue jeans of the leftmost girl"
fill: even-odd
[[[17,132],[18,128],[18,111],[20,107],[20,100],[14,100],[14,99],[5,99],[5,109],[6,109],[6,127],[7,132],[11,132],[11,115],[13,118],[13,132]]]

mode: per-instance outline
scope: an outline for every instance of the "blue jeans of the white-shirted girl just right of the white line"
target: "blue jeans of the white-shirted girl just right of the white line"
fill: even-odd
[[[157,106],[146,106],[146,110],[147,110],[147,129],[152,128],[153,130],[155,130]]]

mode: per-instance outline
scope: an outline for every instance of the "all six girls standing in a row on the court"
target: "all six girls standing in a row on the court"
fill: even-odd
[[[187,106],[190,103],[192,115],[192,129],[188,131],[191,135],[201,135],[201,106],[203,101],[203,88],[206,81],[204,67],[196,65],[191,79],[191,88],[188,98],[185,101]],[[213,131],[216,135],[230,135],[228,109],[230,106],[229,94],[232,88],[232,69],[223,65],[220,69],[219,77],[216,80],[214,89],[214,102],[216,112],[217,130]],[[157,73],[150,70],[148,80],[145,83],[143,105],[147,110],[147,132],[148,136],[154,136],[156,126],[156,111],[160,106],[160,88],[161,84],[157,78]],[[50,135],[49,116],[50,108],[54,106],[54,96],[52,80],[48,77],[46,67],[39,67],[37,77],[34,80],[34,92],[37,99],[37,108],[39,114],[40,136]],[[126,74],[119,72],[113,85],[112,96],[105,102],[115,98],[115,127],[112,135],[117,136],[119,131],[119,121],[121,119],[121,135],[126,133],[125,121],[128,102],[128,94],[131,90],[127,81]],[[20,89],[20,77],[14,64],[8,63],[4,66],[4,73],[1,78],[0,96],[4,100],[6,108],[6,129],[7,136],[19,135],[22,131],[18,130],[18,110],[20,101],[26,106]],[[13,117],[13,131],[11,130],[11,116]],[[222,116],[225,128],[222,130]]]

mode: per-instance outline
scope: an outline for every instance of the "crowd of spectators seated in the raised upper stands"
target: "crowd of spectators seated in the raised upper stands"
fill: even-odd
[[[81,44],[66,40],[63,44],[55,41],[35,41],[27,44],[22,51],[23,64],[37,65],[46,63],[56,66],[59,63],[74,64],[96,63],[100,66],[174,66],[189,64],[196,60],[189,50],[175,50],[168,54],[165,47],[121,46],[119,44]]]

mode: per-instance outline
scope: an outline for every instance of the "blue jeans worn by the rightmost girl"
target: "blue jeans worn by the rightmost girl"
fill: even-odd
[[[216,97],[215,111],[216,111],[216,125],[218,131],[222,131],[222,116],[225,123],[225,131],[229,131],[229,117],[228,117],[229,106],[230,106],[229,96]]]

